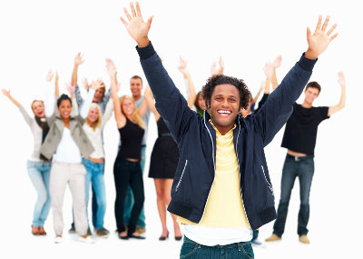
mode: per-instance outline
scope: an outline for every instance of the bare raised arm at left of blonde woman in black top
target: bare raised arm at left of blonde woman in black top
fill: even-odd
[[[117,128],[122,128],[126,125],[126,117],[121,111],[120,99],[117,95],[117,83],[116,83],[116,69],[111,59],[106,59],[106,69],[108,75],[110,75],[111,81],[111,98],[113,99],[113,112],[114,119],[116,120]]]

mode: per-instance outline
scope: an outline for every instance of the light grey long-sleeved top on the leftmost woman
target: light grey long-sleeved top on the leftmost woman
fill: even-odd
[[[34,117],[31,117],[28,115],[28,113],[26,113],[23,105],[19,106],[19,111],[23,115],[27,125],[29,125],[34,137],[34,149],[33,153],[29,157],[29,160],[34,162],[44,162],[42,159],[40,159],[40,147],[42,146],[43,129],[36,123]]]

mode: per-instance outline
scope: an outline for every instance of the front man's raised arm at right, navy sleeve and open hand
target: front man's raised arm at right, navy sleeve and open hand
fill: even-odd
[[[335,27],[333,25],[328,32],[327,26],[329,24],[329,16],[326,18],[323,25],[321,25],[321,15],[319,16],[318,25],[313,35],[310,29],[307,29],[308,50],[301,56],[299,62],[292,67],[282,80],[280,86],[273,91],[265,105],[262,106],[260,112],[255,114],[255,125],[260,127],[264,145],[267,145],[272,140],[273,136],[277,134],[280,128],[285,125],[292,112],[292,105],[299,98],[305,85],[309,81],[312,74],[312,68],[320,54],[322,54],[330,42],[337,37],[332,35]]]

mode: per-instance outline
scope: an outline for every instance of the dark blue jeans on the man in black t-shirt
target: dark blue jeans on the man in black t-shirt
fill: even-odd
[[[298,218],[298,234],[308,234],[309,222],[309,194],[312,176],[314,174],[313,156],[295,158],[287,155],[282,169],[281,196],[278,208],[278,218],[273,225],[273,233],[281,236],[285,230],[286,217],[288,215],[289,197],[294,186],[295,178],[299,177],[300,209]]]

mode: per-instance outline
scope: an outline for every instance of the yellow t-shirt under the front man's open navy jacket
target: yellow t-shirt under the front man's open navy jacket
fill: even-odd
[[[210,120],[211,123],[211,120]],[[250,228],[240,195],[240,172],[233,145],[233,130],[222,135],[216,131],[216,170],[210,196],[199,225],[209,227]],[[178,216],[181,224],[195,224]]]

